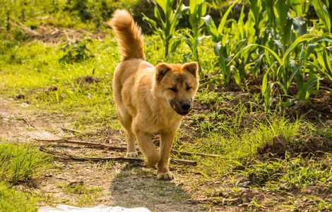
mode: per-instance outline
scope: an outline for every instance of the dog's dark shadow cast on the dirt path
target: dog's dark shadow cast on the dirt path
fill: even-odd
[[[155,172],[152,168],[126,165],[111,184],[114,204],[128,208],[145,207],[150,211],[202,210],[184,189],[174,181],[158,180]]]

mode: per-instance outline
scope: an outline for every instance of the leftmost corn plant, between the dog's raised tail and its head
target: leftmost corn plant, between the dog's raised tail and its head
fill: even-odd
[[[150,25],[150,28],[160,37],[165,48],[165,59],[167,60],[170,52],[174,52],[179,46],[181,40],[172,42],[172,38],[175,36],[177,31],[177,25],[179,24],[179,19],[182,18],[182,13],[186,12],[186,7],[182,6],[182,0],[177,1],[177,9],[173,11],[174,0],[156,0],[153,1],[155,4],[154,16],[158,20],[158,23],[152,18],[148,18],[143,14],[143,20]],[[158,10],[160,6],[163,17]]]

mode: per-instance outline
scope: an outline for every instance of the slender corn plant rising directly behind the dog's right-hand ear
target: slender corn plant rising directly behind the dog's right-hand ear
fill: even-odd
[[[189,7],[186,7],[188,16],[189,16],[189,23],[191,25],[191,31],[183,31],[182,37],[184,38],[184,41],[191,49],[191,52],[194,56],[194,59],[198,61],[198,45],[201,42],[203,38],[206,36],[201,36],[202,26],[204,24],[204,21],[201,19],[201,17],[205,16],[206,14],[206,2],[204,0],[193,0],[189,1]],[[199,76],[202,78],[203,73],[201,69],[199,70]]]

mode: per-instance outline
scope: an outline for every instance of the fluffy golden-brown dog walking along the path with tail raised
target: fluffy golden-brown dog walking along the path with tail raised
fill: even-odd
[[[146,165],[158,163],[158,178],[173,179],[168,160],[182,116],[192,109],[198,88],[197,63],[153,66],[146,61],[141,29],[125,10],[109,21],[121,51],[113,78],[113,95],[121,124],[126,129],[128,157],[137,157],[135,140]],[[152,135],[160,134],[160,151]]]

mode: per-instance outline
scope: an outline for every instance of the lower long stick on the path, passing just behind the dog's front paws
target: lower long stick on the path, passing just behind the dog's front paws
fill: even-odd
[[[93,157],[78,157],[75,155],[69,155],[66,153],[60,153],[58,151],[49,151],[47,148],[44,148],[40,146],[39,148],[40,151],[55,155],[56,158],[64,159],[64,160],[78,160],[78,161],[108,161],[108,160],[114,160],[114,161],[138,161],[138,162],[143,162],[143,158],[129,158],[129,157],[122,157],[122,156],[113,156],[113,157],[105,157],[105,158],[93,158]],[[195,160],[180,160],[180,159],[175,159],[171,158],[170,161],[172,163],[177,163],[177,164],[186,164],[186,165],[197,165],[197,162]]]

